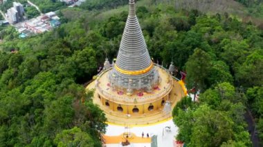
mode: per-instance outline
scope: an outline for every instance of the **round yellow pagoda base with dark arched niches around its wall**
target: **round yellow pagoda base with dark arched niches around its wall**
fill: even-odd
[[[176,103],[185,96],[185,87],[181,81],[172,78],[169,73],[160,67],[158,72],[162,80],[158,88],[151,93],[142,95],[126,95],[125,92],[111,90],[105,71],[96,81],[87,86],[87,90],[94,90],[93,103],[105,112],[109,124],[138,126],[156,124],[170,119],[171,112],[163,112],[165,101],[171,102],[174,108]]]

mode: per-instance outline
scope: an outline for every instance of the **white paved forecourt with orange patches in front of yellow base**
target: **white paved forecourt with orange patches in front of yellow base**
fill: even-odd
[[[110,124],[104,135],[105,146],[120,147],[121,141],[124,141],[123,133],[125,131],[127,131],[125,126]],[[128,140],[132,147],[173,147],[175,136],[178,134],[178,128],[174,125],[172,119],[149,126],[134,126],[129,128],[129,131],[132,137]],[[144,133],[143,138],[142,133]],[[147,133],[149,138],[145,137]]]

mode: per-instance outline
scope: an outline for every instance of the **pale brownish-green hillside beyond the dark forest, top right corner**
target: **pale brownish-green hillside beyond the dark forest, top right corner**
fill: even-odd
[[[155,0],[159,3],[167,2],[178,9],[199,10],[208,14],[234,14],[243,21],[253,21],[257,26],[263,26],[262,0]]]

